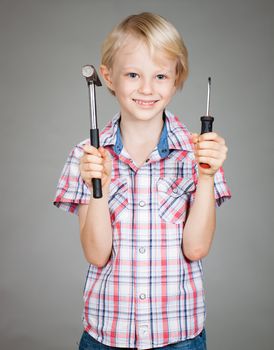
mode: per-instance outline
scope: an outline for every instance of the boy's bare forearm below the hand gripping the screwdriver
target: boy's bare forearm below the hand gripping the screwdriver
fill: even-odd
[[[199,260],[208,254],[215,225],[214,176],[200,176],[183,232],[183,252],[188,259]]]

